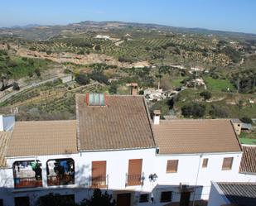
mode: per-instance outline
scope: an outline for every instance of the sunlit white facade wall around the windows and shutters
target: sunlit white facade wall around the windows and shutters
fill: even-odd
[[[247,178],[239,179],[239,163],[241,152],[226,154],[196,154],[196,155],[175,155],[160,156],[156,155],[156,150],[123,150],[123,151],[93,151],[80,152],[72,155],[58,156],[31,156],[26,158],[8,158],[7,164],[12,166],[17,160],[40,160],[42,164],[43,186],[48,189],[56,189],[56,193],[64,191],[75,191],[75,199],[80,202],[89,195],[89,176],[91,175],[91,163],[96,160],[107,161],[107,175],[109,175],[109,190],[125,190],[151,193],[153,190],[155,204],[159,204],[162,191],[173,191],[173,201],[180,199],[179,184],[198,185],[196,193],[191,194],[193,199],[208,199],[210,194],[210,181],[244,181]],[[232,170],[222,170],[224,157],[234,157]],[[75,160],[75,184],[65,186],[48,187],[46,182],[46,161],[51,159],[72,158]],[[207,168],[202,168],[203,158],[208,158]],[[126,174],[128,173],[128,160],[142,159],[142,173],[145,177],[142,186],[126,186]],[[167,160],[179,160],[177,173],[166,173]],[[199,172],[198,172],[199,171]],[[156,173],[158,178],[155,183],[149,181],[148,176]],[[198,175],[197,175],[198,174]],[[12,179],[12,174],[11,179]],[[256,175],[255,175],[256,176]],[[13,187],[12,184],[6,184],[6,187]],[[203,186],[203,187],[202,187]],[[70,190],[69,190],[70,189]],[[33,190],[33,189],[31,189]],[[38,189],[37,194],[43,194],[43,189]],[[45,193],[45,192],[44,192]],[[22,194],[22,193],[21,193]],[[195,196],[194,196],[195,194]],[[138,199],[138,197],[137,197]],[[150,203],[148,203],[150,204]],[[141,204],[146,205],[146,204]]]

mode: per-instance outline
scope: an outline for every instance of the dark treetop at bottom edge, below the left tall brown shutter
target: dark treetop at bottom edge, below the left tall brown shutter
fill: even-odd
[[[116,202],[112,199],[112,195],[104,192],[102,194],[100,189],[94,189],[94,194],[91,199],[84,199],[80,206],[115,206]]]

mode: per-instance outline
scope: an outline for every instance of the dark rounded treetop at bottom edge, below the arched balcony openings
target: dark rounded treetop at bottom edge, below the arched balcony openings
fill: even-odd
[[[36,206],[78,206],[70,196],[61,196],[60,194],[46,194],[36,201]]]

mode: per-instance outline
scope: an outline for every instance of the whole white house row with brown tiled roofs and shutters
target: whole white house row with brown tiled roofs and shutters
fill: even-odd
[[[210,181],[239,179],[243,151],[229,120],[152,120],[142,96],[75,100],[76,120],[16,122],[1,133],[2,205],[50,192],[79,203],[100,188],[118,206],[186,206],[208,199]]]

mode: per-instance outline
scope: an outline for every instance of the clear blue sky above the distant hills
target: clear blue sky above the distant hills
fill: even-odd
[[[256,33],[256,0],[0,0],[0,26],[86,20]]]

